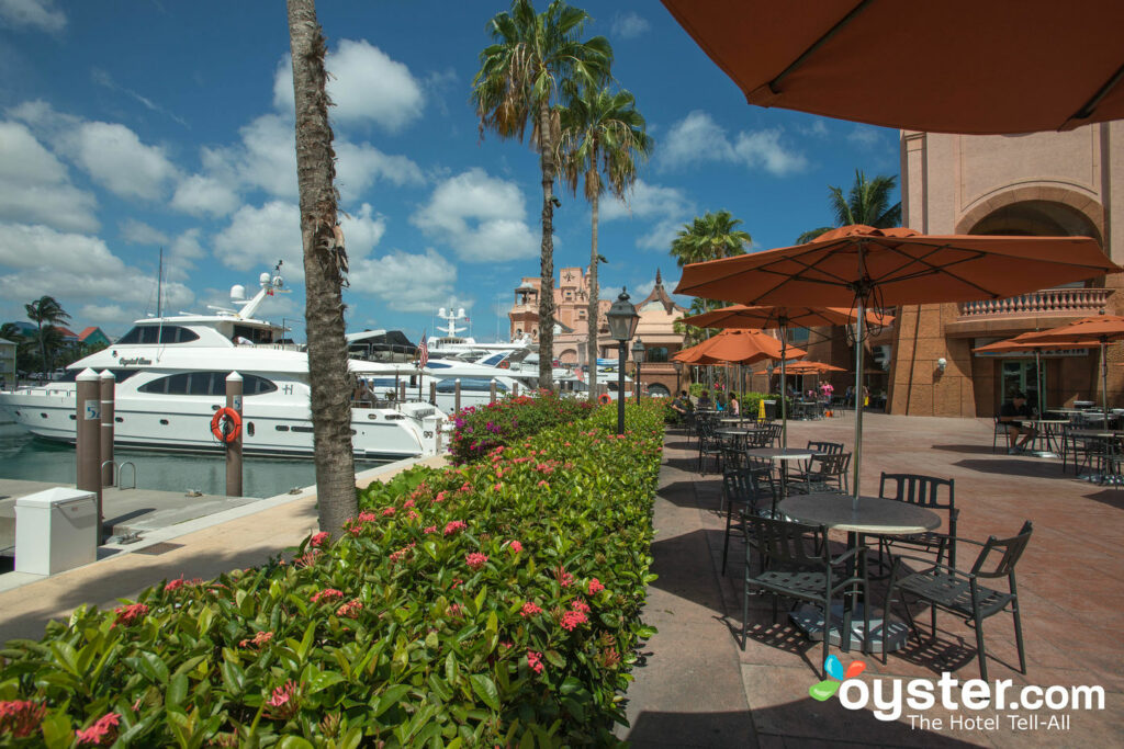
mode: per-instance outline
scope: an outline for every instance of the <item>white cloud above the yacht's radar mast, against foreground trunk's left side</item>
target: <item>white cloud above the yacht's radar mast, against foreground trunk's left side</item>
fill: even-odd
[[[287,275],[303,281],[300,209],[280,200],[261,208],[243,205],[216,235],[215,256],[236,271],[264,271],[281,258]]]

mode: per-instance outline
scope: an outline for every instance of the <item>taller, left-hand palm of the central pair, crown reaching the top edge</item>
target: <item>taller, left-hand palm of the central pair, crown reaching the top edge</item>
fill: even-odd
[[[553,0],[536,15],[531,0],[513,0],[511,9],[488,25],[493,44],[480,53],[480,71],[472,80],[472,100],[480,134],[523,140],[528,121],[543,175],[543,238],[538,286],[538,384],[553,386],[554,349],[554,197],[555,144],[561,125],[562,83],[596,85],[608,76],[613,49],[604,37],[580,42],[589,15]]]

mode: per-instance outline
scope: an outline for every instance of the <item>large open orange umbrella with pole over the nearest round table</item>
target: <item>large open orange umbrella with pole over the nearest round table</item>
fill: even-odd
[[[865,307],[1001,299],[1121,268],[1088,237],[927,236],[849,226],[815,241],[683,268],[676,293],[743,304],[854,304],[855,393],[862,393]],[[855,398],[856,405],[861,395]],[[854,496],[862,463],[855,409]]]

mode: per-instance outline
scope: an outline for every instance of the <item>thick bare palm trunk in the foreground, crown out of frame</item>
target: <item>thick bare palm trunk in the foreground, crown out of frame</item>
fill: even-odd
[[[342,294],[347,256],[335,236],[335,152],[324,70],[327,45],[314,0],[288,0],[288,4],[317,505],[320,530],[338,536],[359,509]]]

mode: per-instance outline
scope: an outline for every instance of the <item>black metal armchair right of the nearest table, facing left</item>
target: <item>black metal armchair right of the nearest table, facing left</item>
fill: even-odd
[[[1023,649],[1023,623],[1018,611],[1018,588],[1015,585],[1015,565],[1026,550],[1031,540],[1033,527],[1027,520],[1022,530],[1013,538],[988,538],[984,544],[969,539],[959,539],[960,544],[972,544],[980,547],[979,556],[970,570],[958,569],[952,565],[935,564],[927,569],[913,572],[905,565],[906,559],[925,561],[919,557],[899,556],[894,559],[890,572],[890,584],[886,593],[886,629],[890,628],[890,606],[894,594],[903,595],[901,604],[909,621],[910,629],[917,629],[906,606],[905,595],[912,595],[918,601],[930,604],[933,613],[933,638],[936,638],[936,611],[962,616],[964,622],[976,628],[976,656],[980,666],[980,678],[987,681],[987,650],[984,647],[984,620],[1009,606],[1015,620],[1015,645],[1018,647],[1018,669],[1026,673],[1026,652]],[[989,557],[998,555],[997,561]],[[985,568],[987,566],[987,568]],[[1006,577],[1007,592],[996,591],[980,585],[981,579]],[[918,636],[918,639],[919,636]],[[886,663],[886,651],[882,651],[882,663]]]

